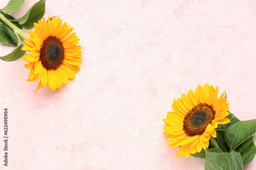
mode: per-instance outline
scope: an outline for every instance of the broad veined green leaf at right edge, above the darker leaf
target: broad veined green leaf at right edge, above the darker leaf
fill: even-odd
[[[256,133],[256,119],[240,121],[229,126],[225,131],[225,140],[233,151],[241,143],[249,139]]]

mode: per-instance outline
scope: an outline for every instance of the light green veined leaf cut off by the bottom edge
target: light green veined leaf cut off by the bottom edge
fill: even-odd
[[[243,169],[240,153],[205,152],[205,170],[241,170]]]

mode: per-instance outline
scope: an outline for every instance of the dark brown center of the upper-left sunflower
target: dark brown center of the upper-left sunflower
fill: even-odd
[[[63,63],[64,48],[56,36],[48,36],[40,48],[39,60],[46,70],[57,70]]]

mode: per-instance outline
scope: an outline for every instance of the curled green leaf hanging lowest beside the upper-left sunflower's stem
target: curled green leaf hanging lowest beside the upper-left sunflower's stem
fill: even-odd
[[[6,56],[3,56],[3,57],[0,56],[0,59],[2,59],[4,61],[18,60],[26,52],[26,51],[21,50],[22,47],[23,47],[22,42],[19,42],[18,46],[10,54],[7,54]]]

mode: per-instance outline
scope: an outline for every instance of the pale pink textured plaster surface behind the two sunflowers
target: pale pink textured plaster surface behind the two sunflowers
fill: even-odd
[[[9,112],[9,166],[1,140],[0,169],[204,169],[203,159],[174,158],[179,148],[167,146],[162,119],[173,99],[205,83],[227,91],[240,120],[256,118],[255,7],[253,0],[47,0],[44,16],[61,15],[80,38],[81,71],[51,93],[24,81],[21,59],[0,61],[0,112]],[[1,56],[12,50],[0,45]],[[256,159],[244,169],[255,166]]]

